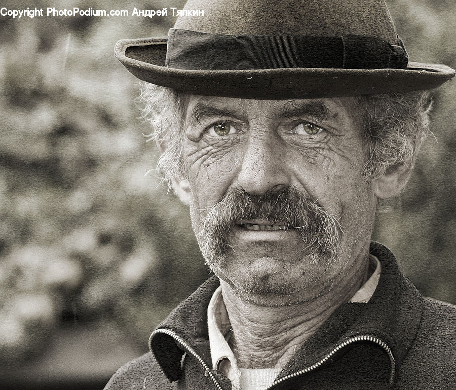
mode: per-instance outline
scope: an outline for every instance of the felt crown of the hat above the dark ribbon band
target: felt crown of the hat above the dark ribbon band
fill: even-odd
[[[189,0],[174,28],[230,35],[367,36],[397,43],[383,0]]]

